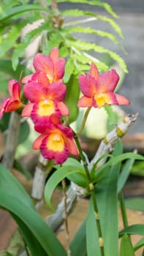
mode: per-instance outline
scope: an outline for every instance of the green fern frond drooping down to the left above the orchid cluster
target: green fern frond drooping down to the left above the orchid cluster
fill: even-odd
[[[12,53],[12,68],[15,70],[18,66],[18,60],[20,57],[23,56],[25,53],[26,47],[29,43],[34,40],[37,35],[41,34],[42,31],[48,29],[48,23],[42,23],[39,28],[30,31],[26,36],[23,38],[23,42],[21,42],[17,48]]]

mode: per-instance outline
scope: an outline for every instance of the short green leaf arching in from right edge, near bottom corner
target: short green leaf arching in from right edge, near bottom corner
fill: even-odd
[[[128,235],[140,235],[144,236],[144,224],[135,224],[129,227],[126,227],[124,230],[121,230],[119,236],[123,236],[124,234]]]

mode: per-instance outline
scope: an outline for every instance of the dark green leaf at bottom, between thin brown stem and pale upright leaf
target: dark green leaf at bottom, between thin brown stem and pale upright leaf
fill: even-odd
[[[72,256],[85,256],[86,255],[86,219],[83,221],[79,230],[75,234],[70,244]]]

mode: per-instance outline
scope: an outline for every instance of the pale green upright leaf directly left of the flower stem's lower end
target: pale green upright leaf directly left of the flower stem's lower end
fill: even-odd
[[[94,215],[94,206],[92,201],[88,208],[88,217],[86,219],[86,248],[88,256],[100,256],[99,236],[96,227],[96,218]]]

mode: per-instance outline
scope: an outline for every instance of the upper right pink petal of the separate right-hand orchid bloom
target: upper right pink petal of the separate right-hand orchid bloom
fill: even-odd
[[[118,80],[119,76],[115,69],[99,75],[96,84],[97,93],[102,94],[107,91],[113,92],[115,90],[115,87],[117,86]]]

